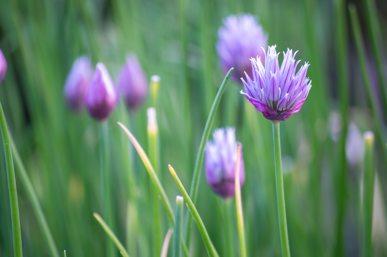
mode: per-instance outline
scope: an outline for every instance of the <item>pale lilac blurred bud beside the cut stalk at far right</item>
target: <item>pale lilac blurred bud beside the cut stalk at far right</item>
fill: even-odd
[[[350,123],[345,141],[345,155],[348,163],[354,166],[363,161],[364,148],[363,136],[361,135],[358,127],[356,127],[354,123]]]

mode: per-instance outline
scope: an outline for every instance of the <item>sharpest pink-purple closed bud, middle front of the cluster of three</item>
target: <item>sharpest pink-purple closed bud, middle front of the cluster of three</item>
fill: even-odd
[[[102,121],[109,117],[117,103],[116,88],[103,63],[97,63],[85,94],[85,106],[90,116]]]

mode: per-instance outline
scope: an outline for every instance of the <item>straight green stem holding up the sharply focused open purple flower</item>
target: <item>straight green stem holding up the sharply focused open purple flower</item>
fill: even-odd
[[[279,120],[273,120],[274,166],[276,170],[277,208],[279,236],[283,257],[290,257],[288,225],[286,224],[284,178],[282,173],[281,140],[279,137]]]

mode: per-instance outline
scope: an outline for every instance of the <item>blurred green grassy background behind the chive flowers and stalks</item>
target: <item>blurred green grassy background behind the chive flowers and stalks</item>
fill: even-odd
[[[89,55],[93,65],[103,62],[115,80],[126,56],[135,53],[148,78],[154,74],[161,77],[156,106],[159,176],[174,207],[180,191],[167,165],[175,168],[189,190],[204,125],[225,75],[216,53],[217,30],[229,14],[251,13],[268,34],[269,45],[276,44],[278,52],[299,50],[296,59],[310,63],[309,96],[299,113],[281,122],[292,255],[360,256],[361,137],[365,130],[378,130],[373,244],[375,256],[387,256],[386,110],[375,71],[366,2],[354,1],[366,49],[363,64],[378,97],[372,99],[377,110],[366,97],[346,1],[1,1],[0,48],[8,71],[0,99],[60,254],[66,250],[69,257],[105,255],[105,233],[92,216],[93,212],[103,213],[97,122],[85,110],[71,112],[63,97],[74,60]],[[387,2],[375,4],[372,17],[382,32],[378,55],[384,60]],[[383,65],[387,72],[385,62]],[[229,80],[212,131],[234,126],[236,139],[243,144],[246,182],[242,202],[248,256],[281,256],[271,122],[240,90],[240,84]],[[149,106],[147,98],[137,110],[127,111],[121,101],[108,119],[115,218],[111,227],[131,256],[159,256],[152,247],[153,185],[116,123],[127,125],[147,152]],[[130,156],[122,151],[122,142],[128,144]],[[0,152],[3,156],[2,148]],[[13,256],[3,158],[0,166],[0,255]],[[203,172],[196,204],[199,214],[219,255],[237,256],[235,199],[215,195]],[[129,186],[129,173],[135,188]],[[15,174],[24,254],[50,256],[17,170]],[[163,209],[161,213],[164,236],[169,222]],[[227,236],[230,233],[235,233],[234,240]],[[192,256],[206,256],[195,224],[192,249]]]

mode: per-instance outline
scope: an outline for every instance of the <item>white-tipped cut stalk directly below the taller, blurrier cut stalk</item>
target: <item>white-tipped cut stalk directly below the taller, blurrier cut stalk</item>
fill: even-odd
[[[156,109],[148,108],[148,149],[149,158],[151,160],[154,172],[160,176],[159,173],[159,128],[156,119]],[[153,210],[153,228],[154,228],[154,251],[158,254],[161,252],[161,216],[160,216],[160,200],[159,194],[154,187],[151,187],[151,206]],[[176,218],[176,217],[175,217]],[[176,224],[175,224],[176,226]]]

